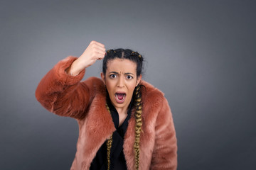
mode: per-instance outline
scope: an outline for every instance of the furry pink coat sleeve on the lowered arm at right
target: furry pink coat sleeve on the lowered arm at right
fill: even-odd
[[[163,96],[156,118],[156,140],[150,169],[177,169],[177,140],[169,103]]]

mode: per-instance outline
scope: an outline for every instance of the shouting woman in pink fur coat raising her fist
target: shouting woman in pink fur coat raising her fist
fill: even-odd
[[[85,68],[102,59],[102,79],[81,81]],[[78,120],[71,169],[176,169],[171,110],[164,94],[142,80],[142,62],[138,52],[105,52],[92,41],[38,84],[36,98],[48,111]]]

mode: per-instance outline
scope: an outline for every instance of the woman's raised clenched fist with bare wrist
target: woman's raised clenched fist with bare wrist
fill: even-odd
[[[105,53],[105,45],[97,41],[91,41],[85,52],[67,69],[67,73],[73,76],[78,75],[82,69],[90,67],[96,60],[102,60]]]

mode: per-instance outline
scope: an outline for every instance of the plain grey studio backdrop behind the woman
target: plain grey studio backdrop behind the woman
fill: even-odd
[[[0,14],[0,169],[70,169],[78,125],[34,91],[91,40],[144,55],[174,116],[178,169],[255,169],[255,1],[1,0]]]

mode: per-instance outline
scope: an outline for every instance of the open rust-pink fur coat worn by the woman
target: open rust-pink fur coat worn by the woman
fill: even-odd
[[[105,140],[114,132],[108,113],[105,85],[91,77],[81,81],[85,70],[75,77],[65,69],[76,60],[67,57],[51,69],[40,81],[36,98],[48,111],[78,120],[77,152],[71,169],[89,169],[92,159]],[[176,169],[177,144],[171,109],[164,94],[146,81],[142,88],[142,132],[140,137],[139,169]],[[124,157],[127,169],[134,170],[134,110],[124,136]]]

